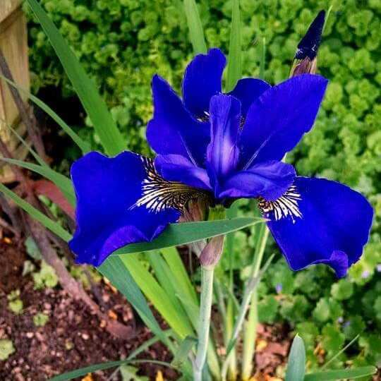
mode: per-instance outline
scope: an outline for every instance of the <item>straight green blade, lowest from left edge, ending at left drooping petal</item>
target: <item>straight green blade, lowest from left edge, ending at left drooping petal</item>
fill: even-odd
[[[41,222],[47,229],[52,231],[54,234],[63,239],[63,241],[70,241],[71,234],[68,233],[61,225],[57,222],[49,219],[49,217],[42,214],[40,210],[37,210],[34,206],[30,205],[29,202],[26,202],[20,198],[16,193],[6,188],[4,184],[0,183],[0,192],[3,193],[6,197],[11,198],[19,207],[21,207],[25,212],[29,213],[33,218],[37,219],[38,222]]]

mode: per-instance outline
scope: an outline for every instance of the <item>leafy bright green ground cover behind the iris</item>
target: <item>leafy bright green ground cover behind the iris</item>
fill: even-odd
[[[152,115],[150,78],[159,73],[179,90],[183,70],[193,56],[182,1],[42,3],[95,79],[128,147],[149,154],[144,136]],[[227,53],[232,1],[200,3],[208,47]],[[261,284],[260,319],[289,322],[305,339],[313,366],[356,334],[361,338],[335,365],[344,361],[381,365],[380,266],[377,270],[381,264],[381,0],[241,0],[243,75],[258,76],[259,45],[265,37],[265,79],[270,83],[286,79],[298,40],[317,12],[331,5],[318,56],[318,72],[330,84],[313,131],[288,160],[301,175],[338,180],[367,196],[375,207],[373,233],[363,259],[339,282],[326,267],[293,273],[280,258]],[[73,96],[44,32],[32,16],[28,18],[35,90],[53,84],[63,97]],[[97,136],[92,134],[92,129],[80,128],[80,135],[97,147]],[[243,203],[241,212],[249,209]],[[253,236],[237,236],[238,268],[250,261]],[[248,258],[242,258],[241,248],[248,249]],[[316,348],[323,350],[319,356],[314,354]]]

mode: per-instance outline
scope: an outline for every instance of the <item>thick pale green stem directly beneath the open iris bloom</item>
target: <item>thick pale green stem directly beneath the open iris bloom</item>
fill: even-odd
[[[209,343],[210,315],[212,313],[214,267],[201,267],[200,320],[198,326],[198,347],[194,364],[194,380],[202,381],[202,369],[207,357]]]

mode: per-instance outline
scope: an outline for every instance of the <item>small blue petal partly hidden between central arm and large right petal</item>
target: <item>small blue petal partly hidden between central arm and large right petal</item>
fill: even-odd
[[[242,78],[238,80],[236,87],[229,92],[229,95],[241,102],[241,116],[246,118],[251,104],[270,87],[267,82],[258,78]]]

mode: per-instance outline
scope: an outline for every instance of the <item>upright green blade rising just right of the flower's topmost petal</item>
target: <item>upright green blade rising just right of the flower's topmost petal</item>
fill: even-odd
[[[241,17],[239,13],[239,0],[233,1],[228,61],[229,63],[227,67],[226,92],[234,89],[234,86],[242,75]]]

